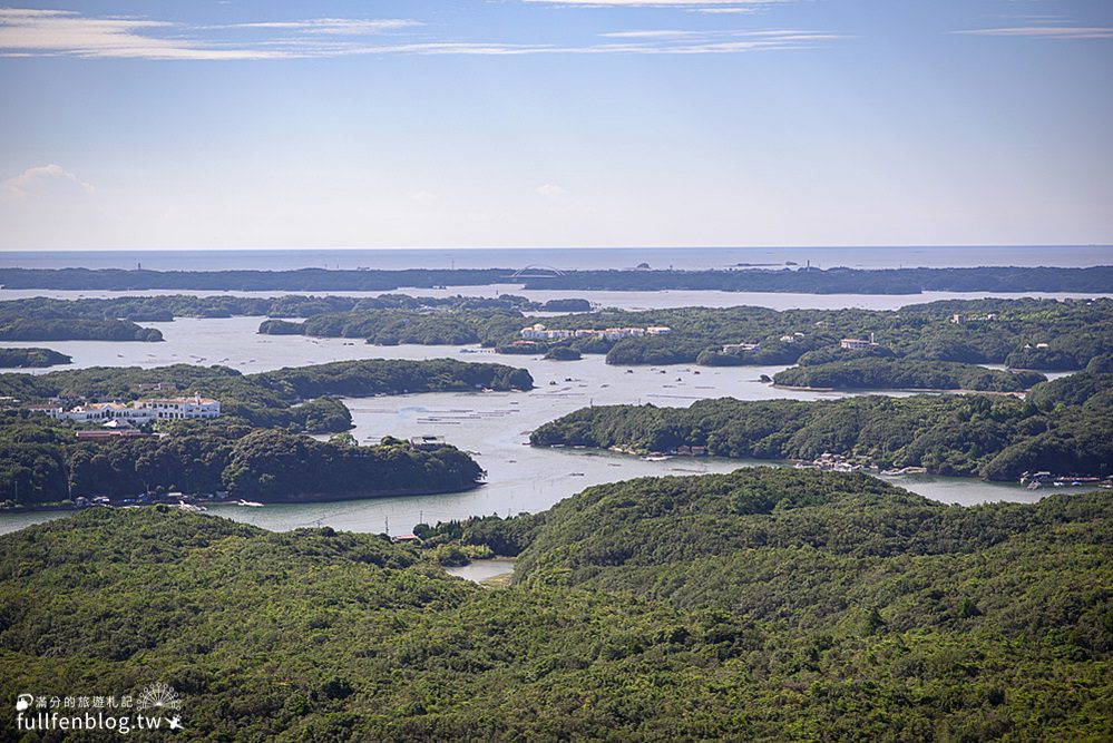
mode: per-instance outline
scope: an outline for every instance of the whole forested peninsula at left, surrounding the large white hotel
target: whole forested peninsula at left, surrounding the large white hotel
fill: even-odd
[[[182,492],[264,501],[446,492],[472,487],[478,466],[451,447],[384,440],[352,446],[297,432],[342,432],[351,412],[338,397],[430,391],[528,390],[529,373],[455,360],[372,359],[244,375],[224,366],[91,368],[0,374],[0,397],[25,407],[0,412],[0,501],[9,507],[72,505],[75,498],[136,499]],[[56,421],[27,405],[56,401],[133,401],[204,394],[221,418],[165,420],[158,436],[79,439],[88,426]],[[56,403],[57,404],[57,403]],[[99,421],[92,423],[94,431]],[[62,501],[67,501],[64,504]]]

